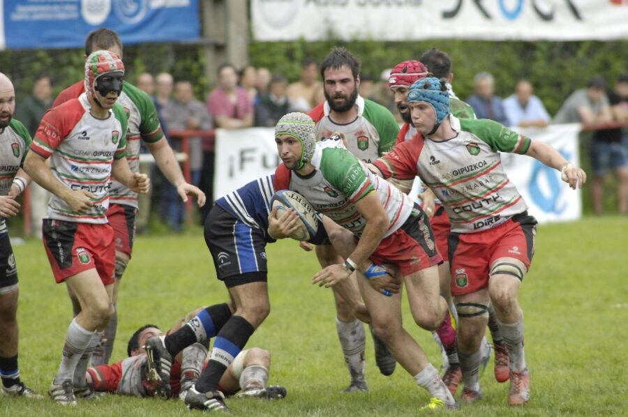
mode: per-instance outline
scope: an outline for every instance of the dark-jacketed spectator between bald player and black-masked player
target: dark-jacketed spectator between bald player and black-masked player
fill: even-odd
[[[24,123],[31,137],[35,136],[41,118],[46,110],[52,107],[52,102],[52,79],[47,75],[42,75],[33,84],[33,94],[16,106],[15,119]],[[33,181],[29,187],[29,195],[31,197],[31,230],[35,236],[41,237],[41,221],[47,217],[50,192]]]

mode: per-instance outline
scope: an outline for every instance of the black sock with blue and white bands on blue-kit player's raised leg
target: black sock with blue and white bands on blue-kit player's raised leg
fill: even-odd
[[[210,305],[185,326],[165,337],[165,347],[169,354],[176,356],[184,347],[195,342],[204,342],[213,338],[231,317],[227,303]]]

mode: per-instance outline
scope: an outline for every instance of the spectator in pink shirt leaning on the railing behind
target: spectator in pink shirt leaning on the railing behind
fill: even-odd
[[[207,110],[217,128],[237,129],[253,126],[253,101],[237,86],[238,75],[230,63],[218,68],[218,87],[207,98]],[[207,192],[206,192],[207,194]],[[211,194],[207,194],[211,197]]]

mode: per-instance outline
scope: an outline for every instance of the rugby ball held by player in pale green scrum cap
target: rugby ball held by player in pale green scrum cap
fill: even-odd
[[[281,190],[276,192],[271,198],[271,208],[277,208],[278,219],[285,215],[289,208],[294,208],[294,211],[299,216],[301,224],[299,228],[290,234],[290,237],[296,241],[309,241],[315,236],[318,229],[318,219],[316,218],[316,211],[298,192],[290,190]]]

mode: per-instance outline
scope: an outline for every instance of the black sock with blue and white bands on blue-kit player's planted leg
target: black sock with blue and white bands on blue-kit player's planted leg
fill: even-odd
[[[214,340],[214,349],[211,349],[207,367],[194,385],[196,391],[207,393],[218,389],[220,377],[244,348],[254,331],[253,325],[244,317],[232,316],[227,320]]]

